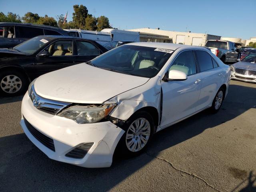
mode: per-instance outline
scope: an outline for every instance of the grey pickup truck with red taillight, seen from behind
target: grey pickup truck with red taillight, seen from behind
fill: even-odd
[[[205,47],[210,49],[222,62],[236,62],[239,52],[234,42],[225,40],[208,40]]]

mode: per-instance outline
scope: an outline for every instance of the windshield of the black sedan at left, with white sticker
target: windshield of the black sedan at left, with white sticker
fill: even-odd
[[[13,49],[17,50],[18,52],[26,53],[26,54],[33,54],[36,52],[40,47],[50,41],[49,38],[43,37],[34,37],[30,40],[25,41],[22,44],[15,46]]]

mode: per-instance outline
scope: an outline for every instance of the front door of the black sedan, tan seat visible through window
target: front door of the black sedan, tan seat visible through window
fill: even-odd
[[[48,51],[49,56],[36,56],[35,65],[30,68],[31,75],[36,78],[47,72],[74,65],[75,55],[73,50],[73,40],[58,40],[53,42],[46,49],[42,50]]]

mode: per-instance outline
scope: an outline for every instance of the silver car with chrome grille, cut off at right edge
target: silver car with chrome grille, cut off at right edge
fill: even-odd
[[[256,54],[249,54],[230,69],[231,79],[256,83]]]

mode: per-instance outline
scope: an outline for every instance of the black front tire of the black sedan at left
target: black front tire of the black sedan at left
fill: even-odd
[[[21,86],[18,87],[18,91],[14,90],[14,92],[9,92],[9,93],[7,91],[4,91],[4,90],[6,90],[5,89],[6,87],[4,87],[6,85],[2,84],[1,81],[2,80],[6,81],[6,79],[4,79],[6,76],[18,77],[17,80],[20,80],[20,82],[21,82]],[[28,78],[23,73],[16,71],[16,70],[4,70],[3,72],[0,72],[0,96],[13,97],[13,96],[18,96],[18,95],[24,94],[28,88],[28,83],[29,83]],[[14,84],[10,84],[10,86],[12,86],[12,85],[14,85]]]

